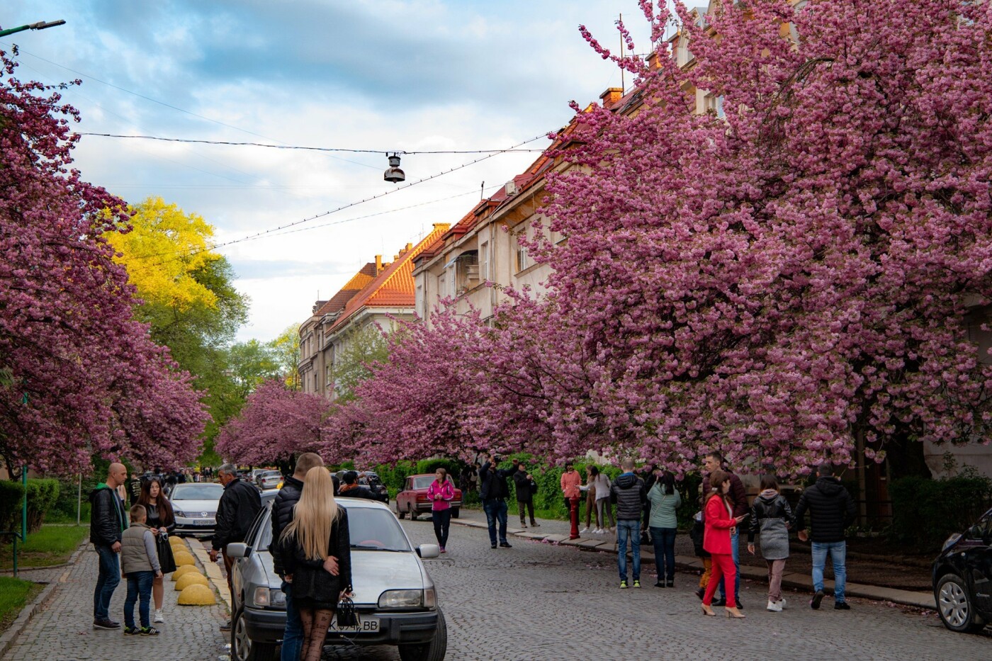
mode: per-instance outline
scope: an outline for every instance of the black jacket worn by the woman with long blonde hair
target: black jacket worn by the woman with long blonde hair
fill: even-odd
[[[293,598],[308,598],[324,603],[337,603],[338,594],[351,587],[351,541],[348,531],[348,512],[343,507],[330,526],[327,543],[328,555],[337,558],[337,576],[323,569],[322,560],[310,560],[296,539],[287,539],[279,545],[282,566],[293,575]]]

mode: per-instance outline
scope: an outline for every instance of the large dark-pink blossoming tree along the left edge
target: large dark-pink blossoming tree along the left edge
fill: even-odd
[[[76,110],[0,58],[0,457],[50,473],[94,454],[186,463],[205,413],[132,317],[106,239],[127,230],[126,205],[70,168]]]

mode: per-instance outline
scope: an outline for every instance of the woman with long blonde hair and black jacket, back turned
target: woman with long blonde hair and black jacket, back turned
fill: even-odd
[[[304,625],[303,661],[319,661],[337,602],[351,593],[348,514],[334,502],[334,485],[323,466],[307,471],[293,522],[279,538],[279,553]]]

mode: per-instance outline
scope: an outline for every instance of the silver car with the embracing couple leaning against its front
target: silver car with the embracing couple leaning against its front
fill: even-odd
[[[268,547],[272,540],[275,491],[262,495],[262,511],[244,543],[228,544],[235,559],[231,583],[231,656],[234,661],[278,659],[286,625],[286,595]],[[339,498],[348,510],[351,537],[352,600],[357,627],[339,629],[331,621],[327,645],[397,645],[403,661],[442,661],[447,627],[437,605],[434,582],[421,558],[436,558],[434,544],[414,547],[386,505],[361,498]]]

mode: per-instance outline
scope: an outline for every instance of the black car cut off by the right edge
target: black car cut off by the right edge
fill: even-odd
[[[933,596],[951,631],[977,632],[992,621],[992,509],[943,543],[933,561]]]

